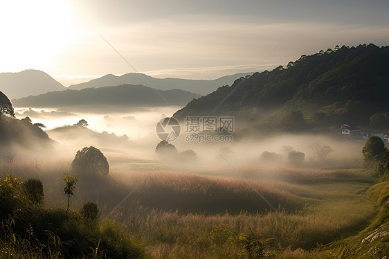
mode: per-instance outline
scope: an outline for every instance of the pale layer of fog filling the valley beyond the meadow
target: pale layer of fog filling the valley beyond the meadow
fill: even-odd
[[[29,116],[33,123],[43,123],[44,130],[54,141],[57,141],[55,152],[36,154],[39,163],[50,159],[59,159],[69,164],[75,152],[85,146],[99,148],[107,157],[111,170],[122,172],[169,170],[177,172],[194,172],[213,175],[215,172],[233,173],[246,168],[282,168],[291,165],[284,146],[303,152],[304,163],[301,168],[355,168],[361,161],[363,142],[356,140],[334,139],[320,134],[282,134],[278,133],[266,139],[255,139],[246,136],[244,139],[230,142],[187,142],[186,132],[172,141],[178,152],[194,150],[197,159],[186,158],[179,154],[161,156],[156,154],[156,145],[161,141],[156,134],[156,123],[165,117],[172,116],[179,107],[156,107],[141,111],[124,113],[92,114],[82,111],[53,111],[51,109],[17,109],[17,117]],[[64,125],[74,125],[79,120],[87,120],[87,129],[55,131]],[[235,125],[238,128],[239,125]],[[314,159],[310,145],[320,143],[332,148],[324,161]],[[266,161],[261,159],[263,152],[277,153],[278,159]],[[34,154],[35,155],[35,154]],[[21,156],[19,156],[21,157]],[[34,157],[34,156],[33,156]]]

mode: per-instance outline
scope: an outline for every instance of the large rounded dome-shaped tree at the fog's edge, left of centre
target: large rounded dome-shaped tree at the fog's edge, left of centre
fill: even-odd
[[[71,168],[79,175],[108,175],[109,173],[107,158],[93,146],[78,150],[71,163]]]

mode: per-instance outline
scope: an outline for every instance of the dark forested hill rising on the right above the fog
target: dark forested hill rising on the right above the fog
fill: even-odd
[[[374,44],[302,55],[287,68],[239,78],[192,100],[174,117],[233,115],[259,130],[368,123],[372,114],[389,110],[388,58],[389,46]]]

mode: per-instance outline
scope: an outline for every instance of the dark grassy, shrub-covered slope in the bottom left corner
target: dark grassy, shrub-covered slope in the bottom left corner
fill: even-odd
[[[18,178],[1,175],[0,258],[144,258],[118,222],[28,199]]]

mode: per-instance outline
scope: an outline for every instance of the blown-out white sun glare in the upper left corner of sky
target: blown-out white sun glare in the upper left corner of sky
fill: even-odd
[[[71,42],[72,23],[67,1],[1,1],[0,71],[47,66]]]

